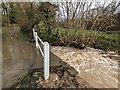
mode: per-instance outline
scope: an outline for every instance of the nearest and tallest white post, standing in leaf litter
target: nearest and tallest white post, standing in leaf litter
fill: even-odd
[[[44,78],[47,80],[49,78],[49,52],[50,45],[48,42],[44,42]]]

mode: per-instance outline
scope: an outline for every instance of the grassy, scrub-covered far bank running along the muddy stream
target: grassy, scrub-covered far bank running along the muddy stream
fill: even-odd
[[[43,40],[47,40],[44,29],[40,31],[39,35]],[[119,37],[119,32],[107,34],[105,32],[96,33],[91,30],[67,30],[61,28],[59,31],[52,30],[50,43],[51,45],[73,46],[77,48],[91,46],[103,50],[118,51]]]

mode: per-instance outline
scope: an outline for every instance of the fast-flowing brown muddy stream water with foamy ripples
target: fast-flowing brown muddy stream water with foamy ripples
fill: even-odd
[[[53,46],[51,51],[68,63],[94,88],[118,88],[120,56],[116,52]]]

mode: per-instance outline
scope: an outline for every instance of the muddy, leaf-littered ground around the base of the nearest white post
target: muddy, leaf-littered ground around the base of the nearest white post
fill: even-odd
[[[87,88],[87,83],[73,76],[68,68],[63,66],[51,67],[48,80],[43,78],[43,68],[33,69],[29,74],[12,88]],[[90,86],[89,86],[90,88]]]

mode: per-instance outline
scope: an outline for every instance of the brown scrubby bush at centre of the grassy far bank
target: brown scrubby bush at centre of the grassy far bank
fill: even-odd
[[[61,30],[60,41],[65,46],[84,48],[95,43],[96,33],[81,30]]]

